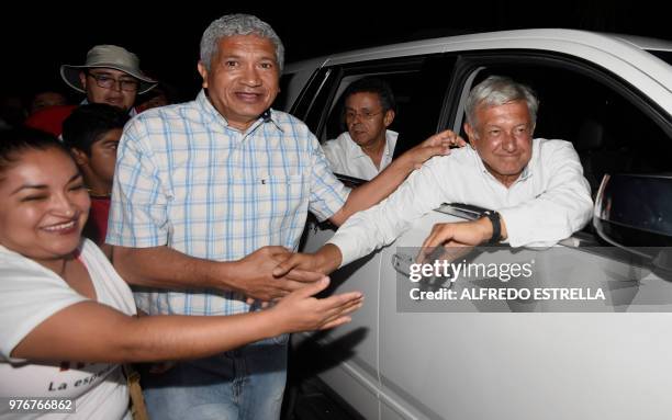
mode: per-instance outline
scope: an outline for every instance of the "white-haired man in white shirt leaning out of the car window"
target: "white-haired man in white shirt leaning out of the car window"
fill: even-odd
[[[533,138],[537,110],[528,87],[490,76],[467,99],[471,147],[428,161],[387,200],[350,217],[315,254],[295,254],[275,274],[293,268],[331,273],[391,243],[441,203],[495,212],[435,225],[423,243],[425,253],[441,245],[503,240],[512,247],[551,246],[571,236],[591,218],[590,185],[571,143]]]

